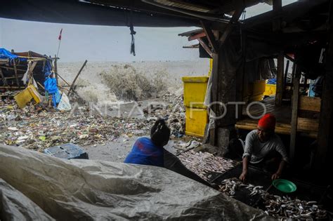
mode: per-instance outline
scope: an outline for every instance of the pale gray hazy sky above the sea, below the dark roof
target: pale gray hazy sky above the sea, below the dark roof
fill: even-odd
[[[294,0],[283,0],[289,4]],[[272,10],[272,6],[258,4],[247,8],[246,17]],[[196,60],[197,49],[184,49],[197,41],[178,36],[197,27],[152,28],[134,27],[136,56],[129,53],[131,35],[129,27],[98,25],[67,25],[46,22],[28,22],[0,18],[0,48],[9,51],[35,51],[55,55],[58,35],[63,28],[60,45],[60,62],[141,61],[141,60]]]

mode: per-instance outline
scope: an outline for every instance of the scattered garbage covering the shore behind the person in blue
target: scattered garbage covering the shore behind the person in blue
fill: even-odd
[[[39,152],[68,142],[81,146],[105,145],[108,140],[118,138],[119,135],[149,135],[150,128],[157,118],[167,119],[171,128],[171,138],[178,138],[185,131],[185,114],[181,112],[182,98],[175,98],[171,93],[162,97],[163,102],[167,104],[164,109],[155,110],[150,115],[145,114],[143,119],[101,116],[94,114],[86,105],[73,106],[70,111],[65,112],[70,105],[63,105],[61,101],[60,109],[43,102],[38,105],[30,102],[20,108],[13,99],[15,93],[4,95],[7,96],[6,99],[0,101],[0,142]],[[62,100],[67,102],[64,95],[65,93]]]

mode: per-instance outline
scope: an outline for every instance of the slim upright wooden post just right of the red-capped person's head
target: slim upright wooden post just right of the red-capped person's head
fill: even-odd
[[[301,69],[296,67],[296,74],[294,78],[294,86],[292,88],[292,124],[290,128],[290,147],[289,159],[294,161],[295,147],[296,147],[296,134],[297,134],[297,113],[299,111],[299,76],[301,76]]]

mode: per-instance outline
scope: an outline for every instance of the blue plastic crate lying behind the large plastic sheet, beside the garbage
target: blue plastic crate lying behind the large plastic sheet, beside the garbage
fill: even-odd
[[[62,159],[89,159],[88,154],[78,145],[67,143],[44,149],[44,154]]]

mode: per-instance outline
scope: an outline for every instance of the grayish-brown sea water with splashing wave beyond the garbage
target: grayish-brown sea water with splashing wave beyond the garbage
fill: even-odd
[[[58,62],[58,74],[72,83],[84,62]],[[87,62],[76,81],[77,93],[96,105],[158,98],[183,93],[182,76],[204,76],[209,60]],[[66,83],[59,79],[59,83]]]

